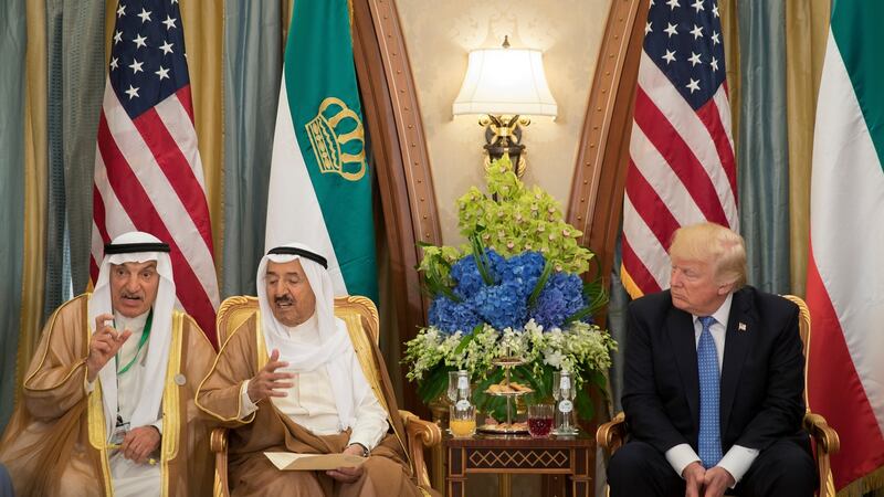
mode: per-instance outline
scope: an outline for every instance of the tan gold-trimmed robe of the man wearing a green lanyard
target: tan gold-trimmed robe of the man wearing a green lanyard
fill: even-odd
[[[88,297],[69,300],[50,317],[0,441],[0,462],[9,468],[20,497],[113,495],[101,382],[96,380],[86,394]],[[173,313],[171,332],[166,378],[156,379],[166,383],[157,461],[160,495],[211,495],[206,416],[193,399],[214,361],[214,350],[183,313]]]

